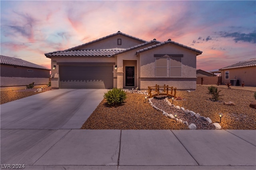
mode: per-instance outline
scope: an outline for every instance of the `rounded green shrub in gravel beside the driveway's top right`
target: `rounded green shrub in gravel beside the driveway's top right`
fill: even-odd
[[[107,100],[109,105],[117,105],[124,102],[126,99],[126,93],[122,89],[113,88],[104,93],[103,97]]]

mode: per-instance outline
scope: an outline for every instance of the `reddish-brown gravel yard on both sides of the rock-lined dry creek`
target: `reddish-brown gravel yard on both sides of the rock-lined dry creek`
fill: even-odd
[[[256,109],[249,107],[249,104],[255,101],[254,92],[227,88],[219,90],[222,90],[220,94],[224,94],[219,102],[210,100],[211,94],[208,94],[207,87],[197,86],[194,92],[178,91],[177,97],[182,100],[174,100],[173,104],[200,113],[201,116],[210,117],[212,122],[219,123],[222,129],[256,129]],[[144,103],[144,97],[142,94],[127,93],[125,103],[117,107],[110,107],[105,99],[102,100],[82,129],[188,129],[184,123],[175,123],[175,120],[153,109],[148,102]],[[235,105],[224,105],[224,102],[229,101]],[[163,100],[157,102],[158,105],[162,105],[162,108],[158,108],[168,108],[172,114],[178,112],[178,117],[185,119],[181,110],[166,106]],[[168,111],[166,109],[166,112]],[[219,113],[223,114],[221,123]],[[200,122],[195,117],[187,117],[183,121],[196,124],[198,129],[214,129],[206,121]]]

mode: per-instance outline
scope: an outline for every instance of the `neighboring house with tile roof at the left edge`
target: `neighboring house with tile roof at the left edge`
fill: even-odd
[[[26,86],[32,82],[35,85],[48,84],[50,69],[17,59],[0,56],[1,58],[1,87]]]

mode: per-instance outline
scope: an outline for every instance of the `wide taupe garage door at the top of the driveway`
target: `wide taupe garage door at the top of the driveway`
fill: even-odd
[[[60,88],[113,88],[113,66],[60,66]]]

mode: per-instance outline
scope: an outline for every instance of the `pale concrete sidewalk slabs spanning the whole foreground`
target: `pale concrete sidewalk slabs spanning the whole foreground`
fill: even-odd
[[[255,170],[256,131],[1,129],[1,164],[26,170]]]

